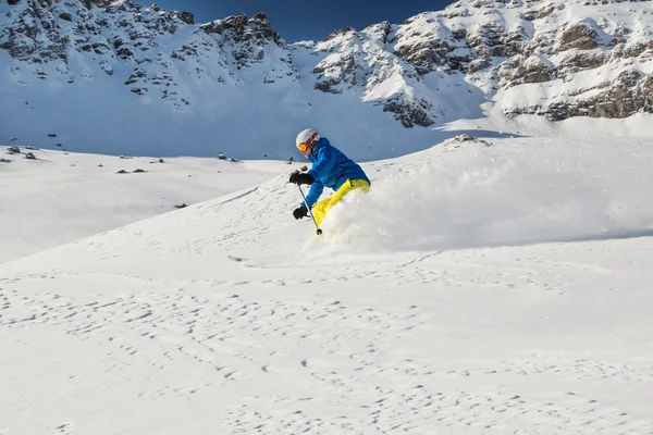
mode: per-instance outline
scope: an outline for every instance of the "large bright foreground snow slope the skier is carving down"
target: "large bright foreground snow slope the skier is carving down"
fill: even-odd
[[[0,433],[651,434],[651,145],[448,141],[325,237],[284,175],[4,263]]]

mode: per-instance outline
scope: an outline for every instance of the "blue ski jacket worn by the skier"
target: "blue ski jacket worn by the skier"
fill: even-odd
[[[347,179],[365,179],[371,185],[362,167],[333,147],[325,137],[318,141],[308,158],[313,164],[308,174],[315,179],[306,196],[308,207],[315,206],[324,187],[337,190]]]

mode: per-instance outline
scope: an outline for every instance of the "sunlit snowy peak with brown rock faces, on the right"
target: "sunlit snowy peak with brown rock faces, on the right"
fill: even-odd
[[[653,110],[652,24],[648,0],[460,0],[398,26],[332,34],[317,46],[331,54],[316,67],[316,88],[361,85],[365,101],[406,127],[480,116],[465,108],[488,99],[510,116],[627,117]],[[401,84],[391,91],[389,76]],[[370,98],[379,82],[385,101]],[[443,88],[468,98],[456,107]]]

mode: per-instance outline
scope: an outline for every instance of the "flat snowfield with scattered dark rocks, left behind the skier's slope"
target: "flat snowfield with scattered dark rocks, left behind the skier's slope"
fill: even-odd
[[[0,147],[0,263],[260,183],[279,161],[79,154]],[[37,160],[25,159],[33,152]],[[146,173],[133,173],[141,169]],[[126,171],[127,174],[116,174]]]

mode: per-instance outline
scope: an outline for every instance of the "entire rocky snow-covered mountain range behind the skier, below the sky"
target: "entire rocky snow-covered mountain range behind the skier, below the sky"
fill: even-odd
[[[459,119],[651,113],[652,5],[458,0],[288,45],[264,14],[196,25],[128,0],[9,0],[0,141],[287,158],[316,125],[375,159],[423,149]]]

